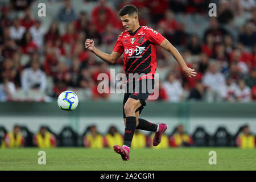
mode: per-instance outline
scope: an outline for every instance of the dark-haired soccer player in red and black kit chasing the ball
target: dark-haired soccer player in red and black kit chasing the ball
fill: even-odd
[[[146,86],[142,84],[142,80],[151,81],[152,87],[154,87],[154,74],[156,70],[155,45],[160,45],[172,53],[183,69],[183,72],[189,78],[196,76],[196,72],[194,72],[194,69],[187,67],[180,53],[167,39],[152,28],[139,25],[138,10],[134,5],[124,6],[119,11],[119,17],[122,20],[125,31],[119,35],[111,54],[98,50],[94,47],[94,42],[91,39],[86,39],[85,48],[88,48],[95,55],[110,64],[114,64],[122,53],[124,53],[123,66],[126,75],[144,73],[137,80],[134,78],[130,79],[130,76],[127,79],[126,88],[129,88],[129,84],[133,84],[133,90],[132,92],[125,93],[123,98],[123,120],[125,122],[124,142],[122,147],[118,145],[113,146],[114,151],[120,154],[123,160],[129,160],[131,140],[133,139],[135,129],[154,131],[153,146],[158,146],[161,142],[162,134],[167,129],[165,123],[156,125],[155,123],[139,118],[139,114],[146,105],[145,101],[152,93],[149,90],[146,90],[146,93],[141,92],[142,87]],[[139,93],[135,92],[138,86]]]

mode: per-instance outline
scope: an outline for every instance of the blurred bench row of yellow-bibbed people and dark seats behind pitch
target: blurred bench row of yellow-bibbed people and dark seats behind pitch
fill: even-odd
[[[131,148],[168,148],[191,146],[221,146],[255,148],[256,136],[250,133],[248,125],[243,125],[235,135],[229,134],[225,127],[218,127],[213,135],[209,135],[203,127],[197,127],[192,135],[184,131],[184,126],[179,124],[171,132],[162,135],[162,142],[152,146],[154,132],[145,135],[135,130]],[[101,134],[96,125],[88,126],[82,135],[78,135],[71,127],[64,127],[60,134],[55,134],[47,126],[41,126],[38,133],[32,134],[27,127],[15,125],[13,131],[7,132],[0,127],[0,148],[18,147],[87,147],[87,148],[112,148],[115,144],[122,146],[123,134],[117,127],[110,126],[106,134]]]

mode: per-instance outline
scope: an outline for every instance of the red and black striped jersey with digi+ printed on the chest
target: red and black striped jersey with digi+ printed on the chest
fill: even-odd
[[[152,28],[143,26],[130,34],[123,31],[114,46],[114,52],[123,53],[125,73],[150,73],[156,71],[156,49],[165,38]],[[149,78],[149,77],[148,77]]]

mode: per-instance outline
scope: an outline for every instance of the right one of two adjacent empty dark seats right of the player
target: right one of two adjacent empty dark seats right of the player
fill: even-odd
[[[213,138],[214,146],[233,146],[233,136],[228,133],[225,127],[218,127],[216,133],[213,135]]]

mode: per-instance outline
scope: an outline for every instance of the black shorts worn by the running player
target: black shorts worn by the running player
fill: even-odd
[[[141,102],[141,106],[135,111],[135,113],[139,111],[139,114],[141,114],[142,109],[146,106],[146,100],[148,96],[152,94],[154,88],[154,79],[143,79],[139,81],[133,80],[133,84],[131,84],[131,82],[127,82],[126,93],[123,96],[123,118],[126,118],[124,106],[129,97]]]

